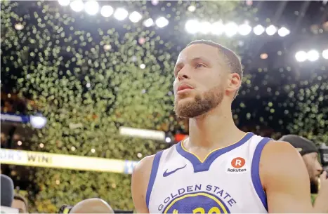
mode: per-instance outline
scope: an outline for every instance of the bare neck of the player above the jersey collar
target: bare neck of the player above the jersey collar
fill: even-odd
[[[225,147],[242,138],[232,119],[230,107],[217,107],[197,118],[189,119],[189,143],[197,147]],[[188,144],[189,144],[188,143]]]

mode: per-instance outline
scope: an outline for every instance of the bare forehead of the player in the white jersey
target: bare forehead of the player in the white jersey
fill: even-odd
[[[188,63],[195,59],[216,62],[219,59],[218,48],[207,44],[192,44],[181,51],[176,63]]]

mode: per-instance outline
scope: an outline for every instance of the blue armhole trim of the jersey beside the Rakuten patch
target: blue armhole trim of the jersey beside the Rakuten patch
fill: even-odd
[[[260,178],[260,159],[264,146],[272,139],[263,138],[258,145],[256,146],[253,160],[251,161],[251,181],[253,182],[255,191],[258,197],[261,199],[264,208],[268,211],[268,202],[266,200],[266,194],[262,187],[261,178]]]

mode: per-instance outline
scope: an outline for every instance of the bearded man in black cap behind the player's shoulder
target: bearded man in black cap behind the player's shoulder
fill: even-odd
[[[319,151],[315,143],[299,135],[284,135],[279,140],[289,142],[299,151],[306,164],[311,187],[313,187],[311,188],[313,207],[320,213],[328,213],[328,203],[326,203],[328,201],[327,173],[322,173],[322,166],[317,156]],[[319,192],[317,192],[318,189]]]

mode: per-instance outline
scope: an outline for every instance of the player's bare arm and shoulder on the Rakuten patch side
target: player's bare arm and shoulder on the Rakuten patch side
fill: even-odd
[[[301,155],[288,142],[268,142],[260,161],[260,176],[269,213],[313,213],[310,178]]]

